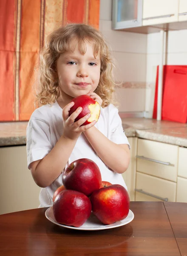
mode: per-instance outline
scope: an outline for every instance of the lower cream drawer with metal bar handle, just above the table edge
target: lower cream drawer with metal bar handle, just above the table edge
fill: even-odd
[[[166,198],[170,202],[176,201],[176,183],[173,181],[136,172],[137,189],[142,189],[142,192],[148,193],[149,195],[136,191],[136,201],[166,201],[164,200]]]

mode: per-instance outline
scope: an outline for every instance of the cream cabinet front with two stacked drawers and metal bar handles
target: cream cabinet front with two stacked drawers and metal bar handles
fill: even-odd
[[[135,201],[176,201],[178,148],[138,139]]]

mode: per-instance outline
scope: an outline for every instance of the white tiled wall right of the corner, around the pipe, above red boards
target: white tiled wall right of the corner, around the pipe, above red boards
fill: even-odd
[[[187,29],[164,33],[165,65],[187,65]],[[159,65],[160,34],[147,35],[146,105],[147,117],[152,117],[155,93],[156,66]]]

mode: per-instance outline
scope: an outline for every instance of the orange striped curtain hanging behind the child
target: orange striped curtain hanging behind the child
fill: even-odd
[[[34,67],[43,42],[67,22],[99,28],[100,0],[0,0],[0,121],[34,111]]]

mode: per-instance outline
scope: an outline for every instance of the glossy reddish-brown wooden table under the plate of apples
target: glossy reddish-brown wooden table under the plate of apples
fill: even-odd
[[[59,227],[47,208],[0,215],[2,256],[187,256],[187,204],[131,202],[134,219],[108,230]]]

